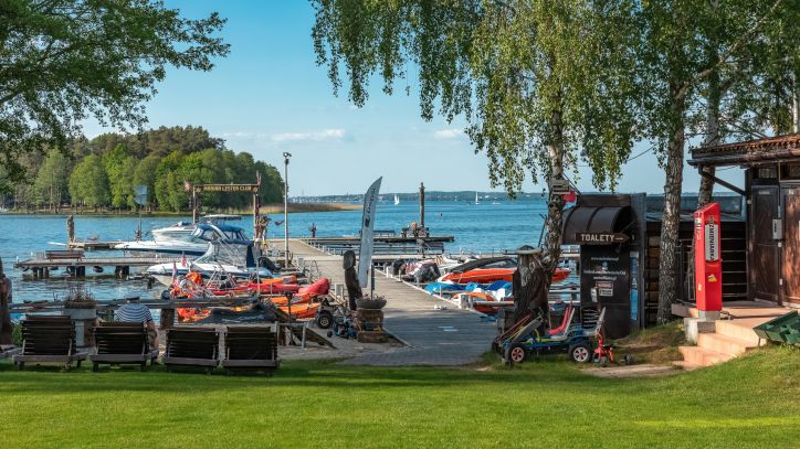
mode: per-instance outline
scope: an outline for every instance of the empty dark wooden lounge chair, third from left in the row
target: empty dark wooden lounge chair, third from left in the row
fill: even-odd
[[[209,327],[178,327],[167,331],[162,363],[172,366],[204,367],[207,374],[219,364],[220,333]]]

